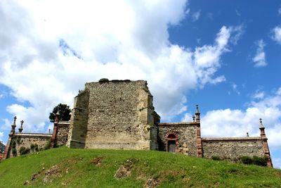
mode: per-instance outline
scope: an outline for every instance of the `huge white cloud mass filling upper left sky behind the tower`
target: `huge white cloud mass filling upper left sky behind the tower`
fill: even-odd
[[[168,27],[180,23],[185,6],[185,1],[4,1],[0,83],[30,104],[11,104],[7,111],[25,120],[24,131],[46,132],[53,106],[72,106],[85,82],[107,77],[148,80],[162,120],[182,113],[187,90],[226,80],[215,73],[239,32],[223,26],[214,44],[195,50],[171,44]]]

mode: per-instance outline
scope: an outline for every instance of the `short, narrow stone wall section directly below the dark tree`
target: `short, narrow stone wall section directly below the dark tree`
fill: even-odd
[[[58,123],[58,132],[55,139],[55,144],[57,146],[63,146],[67,143],[68,132],[69,132],[70,122],[69,121],[60,121]]]

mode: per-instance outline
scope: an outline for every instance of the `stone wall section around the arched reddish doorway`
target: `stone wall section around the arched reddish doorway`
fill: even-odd
[[[197,156],[197,123],[159,123],[159,150],[167,150],[167,137],[176,135],[176,152]]]

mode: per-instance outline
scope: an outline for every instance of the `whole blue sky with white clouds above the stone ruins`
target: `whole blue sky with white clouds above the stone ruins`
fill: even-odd
[[[0,141],[13,116],[48,132],[86,82],[147,80],[162,122],[201,112],[202,137],[259,136],[281,168],[280,1],[0,2]]]

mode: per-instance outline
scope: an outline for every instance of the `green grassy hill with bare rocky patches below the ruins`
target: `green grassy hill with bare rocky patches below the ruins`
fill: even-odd
[[[161,151],[49,149],[0,163],[0,187],[281,187],[281,170]]]

